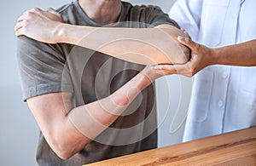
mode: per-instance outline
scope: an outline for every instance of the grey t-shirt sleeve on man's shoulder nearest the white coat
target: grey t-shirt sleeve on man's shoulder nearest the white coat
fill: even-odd
[[[165,14],[161,9],[154,9],[154,7],[148,7],[148,23],[151,27],[160,26],[162,24],[169,24],[177,26],[177,23],[170,19],[168,14]]]

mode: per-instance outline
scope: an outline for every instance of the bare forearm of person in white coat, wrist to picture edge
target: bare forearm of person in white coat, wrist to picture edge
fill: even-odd
[[[256,39],[212,49],[215,64],[230,66],[256,66]]]

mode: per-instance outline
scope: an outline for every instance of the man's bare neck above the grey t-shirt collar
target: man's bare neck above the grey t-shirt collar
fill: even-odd
[[[79,0],[84,12],[100,25],[108,25],[118,20],[121,12],[120,0]]]

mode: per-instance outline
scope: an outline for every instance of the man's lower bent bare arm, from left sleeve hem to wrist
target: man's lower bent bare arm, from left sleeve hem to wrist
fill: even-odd
[[[43,94],[27,103],[49,146],[67,159],[108,128],[141,90],[165,74],[158,66],[147,66],[107,98],[76,108],[71,106],[71,93]]]

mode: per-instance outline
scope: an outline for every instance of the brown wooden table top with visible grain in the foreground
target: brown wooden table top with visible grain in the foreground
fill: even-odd
[[[256,127],[88,165],[256,165]]]

